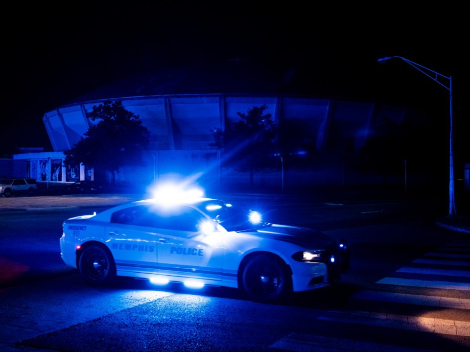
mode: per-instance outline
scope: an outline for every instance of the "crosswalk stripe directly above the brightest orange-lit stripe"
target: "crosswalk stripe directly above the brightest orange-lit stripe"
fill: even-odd
[[[441,308],[457,308],[470,310],[470,300],[464,298],[411,295],[407,293],[379,292],[371,290],[357,292],[352,295],[351,298],[367,301],[391,302],[409,305],[426,305]]]

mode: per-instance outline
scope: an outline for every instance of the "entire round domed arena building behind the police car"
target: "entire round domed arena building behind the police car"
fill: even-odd
[[[221,166],[221,152],[211,147],[211,131],[224,130],[240,120],[238,113],[263,105],[279,129],[290,131],[298,143],[270,156],[274,166],[258,170],[251,186],[382,182],[378,175],[358,171],[361,148],[381,121],[400,123],[421,116],[402,106],[334,97],[328,85],[316,84],[316,91],[312,90],[310,78],[243,60],[145,72],[47,111],[43,121],[53,150],[14,155],[14,173],[26,172],[40,183],[87,179],[109,183],[110,176],[103,170],[83,164],[66,167],[63,162],[64,151],[96,123],[87,112],[112,100],[138,115],[150,132],[144,162],[122,167],[117,186],[145,187],[168,175],[204,185],[250,186],[247,173]],[[401,182],[401,178],[389,182]]]

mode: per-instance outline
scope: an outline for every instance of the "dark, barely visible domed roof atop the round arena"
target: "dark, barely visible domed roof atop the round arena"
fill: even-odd
[[[180,94],[257,94],[335,96],[334,82],[296,66],[274,66],[243,59],[162,67],[98,88],[70,101]],[[342,86],[344,88],[344,86]],[[343,92],[344,93],[344,92]],[[348,96],[343,96],[348,98]]]

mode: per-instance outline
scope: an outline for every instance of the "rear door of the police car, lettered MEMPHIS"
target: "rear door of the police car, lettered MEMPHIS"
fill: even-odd
[[[147,209],[135,206],[116,211],[106,227],[106,244],[121,274],[142,272],[156,274],[158,234],[145,221]]]

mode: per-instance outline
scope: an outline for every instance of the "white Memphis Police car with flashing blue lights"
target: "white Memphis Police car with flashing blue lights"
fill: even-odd
[[[206,197],[152,198],[72,217],[61,258],[90,284],[117,276],[156,284],[243,289],[257,302],[314,290],[349,268],[345,240],[264,222],[260,213]]]

